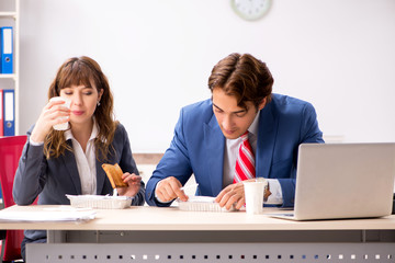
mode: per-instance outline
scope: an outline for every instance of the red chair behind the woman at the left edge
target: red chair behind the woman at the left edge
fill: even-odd
[[[15,204],[12,198],[12,185],[26,139],[25,135],[0,137],[0,182],[4,207]],[[23,230],[7,230],[5,240],[1,242],[1,247],[4,248],[1,248],[0,259],[4,262],[22,259],[22,240]]]

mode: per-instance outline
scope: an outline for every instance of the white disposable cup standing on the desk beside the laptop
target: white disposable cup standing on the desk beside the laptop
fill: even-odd
[[[263,210],[264,181],[245,181],[242,184],[245,187],[247,214],[261,214]]]

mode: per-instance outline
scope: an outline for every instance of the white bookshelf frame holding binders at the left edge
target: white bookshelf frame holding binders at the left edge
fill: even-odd
[[[14,94],[14,125],[19,135],[19,96],[20,96],[20,0],[1,0],[0,26],[13,27],[13,73],[0,73],[0,89],[13,89]]]

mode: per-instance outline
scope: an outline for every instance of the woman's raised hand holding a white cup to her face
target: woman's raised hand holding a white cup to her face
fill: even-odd
[[[56,124],[67,123],[70,118],[70,110],[64,106],[64,101],[49,101],[45,105],[33,128],[31,139],[35,142],[43,142],[50,127]],[[59,118],[64,117],[64,118]]]

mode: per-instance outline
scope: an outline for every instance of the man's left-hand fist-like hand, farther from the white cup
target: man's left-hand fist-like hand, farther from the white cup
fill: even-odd
[[[177,197],[185,202],[188,201],[188,196],[182,190],[180,190],[182,184],[180,183],[180,181],[178,181],[173,176],[170,176],[159,181],[156,186],[155,193],[159,201],[162,203],[170,202],[172,199],[176,199]]]

